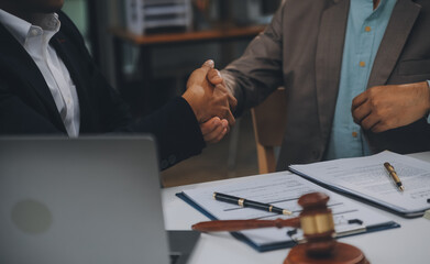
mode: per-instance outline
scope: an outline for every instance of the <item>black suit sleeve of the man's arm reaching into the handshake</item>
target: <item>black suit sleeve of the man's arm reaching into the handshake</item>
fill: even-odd
[[[131,118],[130,108],[122,100],[119,92],[113,89],[100,74],[88,51],[84,40],[71,21],[64,18],[65,25],[71,32],[76,45],[81,48],[90,72],[90,87],[88,99],[90,108],[97,112],[95,118],[99,125],[92,131],[99,133],[150,133],[154,135],[158,146],[159,167],[165,169],[190,156],[201,153],[206,146],[200,125],[191,107],[181,97],[174,98],[159,110],[145,116],[140,120]],[[66,29],[66,30],[67,30]],[[96,107],[95,107],[96,106]],[[88,124],[91,125],[91,124]]]

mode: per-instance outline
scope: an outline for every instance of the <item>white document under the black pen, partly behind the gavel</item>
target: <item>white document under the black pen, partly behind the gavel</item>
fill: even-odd
[[[390,219],[364,208],[359,202],[350,200],[345,197],[327,190],[298,175],[289,172],[276,174],[267,174],[264,177],[250,178],[238,184],[228,184],[224,186],[206,187],[186,190],[183,195],[191,200],[199,209],[203,209],[210,213],[212,218],[219,220],[231,219],[276,219],[276,218],[293,218],[297,217],[301,208],[297,204],[300,196],[320,191],[330,197],[329,207],[333,212],[335,231],[338,237],[365,232],[377,227],[377,229],[386,229],[397,227]],[[236,205],[231,205],[213,199],[213,193],[222,193],[250,200],[266,202],[288,209],[294,212],[294,216],[280,216],[263,210],[252,208],[241,208]],[[251,244],[260,250],[273,250],[282,246],[284,243],[293,243],[293,240],[300,240],[301,233],[290,238],[287,231],[293,229],[266,228],[256,230],[246,230],[241,233],[245,235]],[[291,246],[293,244],[289,244]],[[274,248],[273,248],[274,246]]]

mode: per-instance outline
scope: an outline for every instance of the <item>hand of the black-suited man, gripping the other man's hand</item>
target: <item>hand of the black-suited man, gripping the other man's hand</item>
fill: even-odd
[[[220,119],[227,119],[230,127],[232,127],[235,120],[230,110],[230,105],[235,106],[236,100],[222,84],[214,87],[209,84],[207,75],[210,69],[213,69],[213,62],[207,61],[201,68],[192,72],[183,97],[192,108],[199,123],[219,117]]]

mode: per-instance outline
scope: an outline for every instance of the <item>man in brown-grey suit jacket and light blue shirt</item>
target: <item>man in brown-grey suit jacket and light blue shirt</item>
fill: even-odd
[[[430,150],[430,1],[286,0],[221,75],[236,114],[285,86],[277,169]]]

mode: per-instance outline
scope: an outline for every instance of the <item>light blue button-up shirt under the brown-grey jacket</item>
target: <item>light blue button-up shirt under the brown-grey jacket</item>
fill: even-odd
[[[352,100],[366,90],[379,44],[397,0],[351,0],[343,48],[341,79],[326,160],[371,154],[351,113]]]

